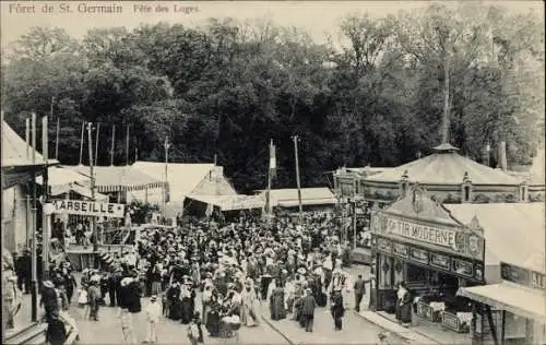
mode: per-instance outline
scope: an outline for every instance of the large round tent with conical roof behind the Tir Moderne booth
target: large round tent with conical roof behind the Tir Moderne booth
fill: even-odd
[[[387,207],[415,183],[442,204],[513,203],[543,200],[544,183],[514,177],[459,154],[448,143],[431,154],[394,168],[341,168],[334,174],[335,193],[342,203],[354,204],[357,250],[369,246],[370,209]],[[366,253],[365,253],[366,254]]]

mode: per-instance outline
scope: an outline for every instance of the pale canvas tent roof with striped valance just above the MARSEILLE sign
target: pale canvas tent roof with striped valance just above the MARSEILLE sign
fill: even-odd
[[[88,166],[75,166],[72,169],[90,176]],[[133,191],[153,188],[162,188],[164,182],[151,177],[133,166],[98,166],[93,167],[95,186],[98,192]]]

